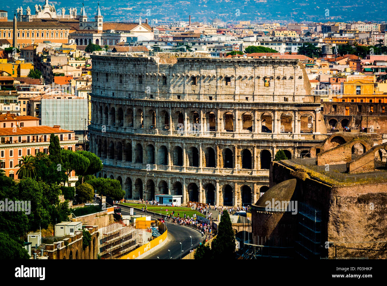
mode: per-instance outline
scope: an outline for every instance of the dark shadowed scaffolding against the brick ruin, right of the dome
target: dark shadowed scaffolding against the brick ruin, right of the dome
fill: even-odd
[[[307,203],[298,203],[298,240],[296,253],[305,259],[321,254],[321,211]]]

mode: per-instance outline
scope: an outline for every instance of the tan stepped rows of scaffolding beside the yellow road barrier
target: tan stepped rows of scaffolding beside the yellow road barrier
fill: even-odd
[[[116,259],[142,245],[142,229],[122,221],[102,228],[100,255],[102,259]]]

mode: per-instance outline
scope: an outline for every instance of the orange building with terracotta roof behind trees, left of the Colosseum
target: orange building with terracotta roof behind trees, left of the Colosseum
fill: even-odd
[[[0,128],[0,169],[5,175],[17,179],[16,175],[22,156],[36,155],[39,152],[48,154],[50,135],[58,135],[62,149],[75,151],[74,131],[61,129],[60,126],[37,126],[37,127],[8,127]],[[69,176],[69,183],[75,184],[78,178],[74,171]]]

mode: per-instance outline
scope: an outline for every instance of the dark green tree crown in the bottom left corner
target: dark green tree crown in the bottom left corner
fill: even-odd
[[[28,259],[27,250],[22,242],[10,237],[7,233],[0,233],[0,259]]]

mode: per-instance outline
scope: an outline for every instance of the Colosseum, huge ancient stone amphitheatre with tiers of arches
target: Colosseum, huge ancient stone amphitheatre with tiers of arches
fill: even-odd
[[[268,189],[279,149],[308,156],[327,136],[298,60],[94,52],[90,150],[125,198],[182,195],[237,206]]]

